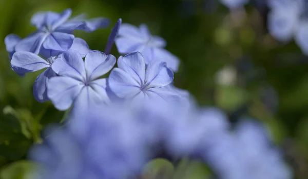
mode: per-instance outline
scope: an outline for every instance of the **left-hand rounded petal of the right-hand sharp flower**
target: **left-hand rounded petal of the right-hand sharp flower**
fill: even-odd
[[[125,98],[136,95],[140,86],[128,73],[120,68],[114,68],[109,74],[108,86],[115,95]]]

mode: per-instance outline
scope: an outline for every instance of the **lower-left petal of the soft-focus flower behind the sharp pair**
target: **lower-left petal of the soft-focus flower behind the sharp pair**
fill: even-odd
[[[120,28],[121,29],[121,28]],[[142,41],[127,37],[118,37],[115,39],[115,45],[120,54],[127,54],[131,52],[140,52],[144,49],[145,45]]]

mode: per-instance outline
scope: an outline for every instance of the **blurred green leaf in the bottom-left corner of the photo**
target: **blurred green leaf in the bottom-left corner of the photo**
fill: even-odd
[[[33,179],[36,164],[30,161],[18,161],[1,170],[1,179]]]

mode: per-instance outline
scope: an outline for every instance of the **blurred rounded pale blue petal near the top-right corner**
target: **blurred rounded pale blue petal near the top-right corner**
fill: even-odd
[[[280,41],[290,41],[296,33],[297,18],[292,11],[272,10],[268,13],[268,31]]]

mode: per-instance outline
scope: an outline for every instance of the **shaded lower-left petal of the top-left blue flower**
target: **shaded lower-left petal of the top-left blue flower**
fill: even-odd
[[[47,36],[48,34],[44,32],[34,32],[17,43],[15,51],[27,51],[38,54]]]

